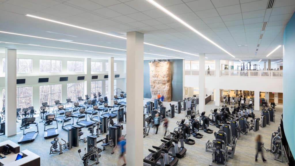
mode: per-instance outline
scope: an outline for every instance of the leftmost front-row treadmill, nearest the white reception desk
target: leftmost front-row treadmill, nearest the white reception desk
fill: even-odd
[[[38,123],[35,123],[34,121],[35,121],[35,117],[24,118],[25,124],[21,126],[22,128],[24,128],[24,130],[23,130],[22,137],[17,142],[18,144],[32,142],[35,140],[36,136],[39,134],[39,128],[38,128]],[[36,125],[37,131],[30,131],[30,132],[25,133],[26,126],[30,126],[31,124]]]

